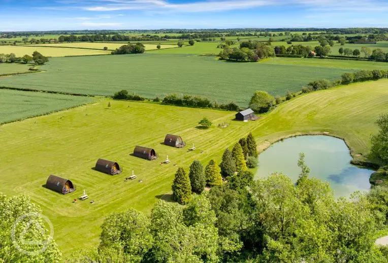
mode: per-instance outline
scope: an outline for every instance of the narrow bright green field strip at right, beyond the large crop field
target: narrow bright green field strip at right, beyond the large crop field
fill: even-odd
[[[270,57],[260,61],[265,64],[306,65],[352,70],[388,70],[388,63],[362,60]]]

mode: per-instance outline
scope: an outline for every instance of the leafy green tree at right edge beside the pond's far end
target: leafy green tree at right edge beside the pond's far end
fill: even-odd
[[[379,131],[371,138],[371,153],[388,163],[388,113],[381,114],[376,125]]]

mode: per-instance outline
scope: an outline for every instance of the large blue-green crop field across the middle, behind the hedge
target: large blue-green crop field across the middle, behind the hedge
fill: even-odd
[[[234,101],[245,107],[256,90],[285,95],[287,90],[301,90],[310,81],[334,80],[349,72],[306,65],[223,62],[179,54],[51,58],[40,69],[47,72],[3,78],[0,86],[94,95],[113,95],[127,89],[150,98],[184,93],[217,102]]]

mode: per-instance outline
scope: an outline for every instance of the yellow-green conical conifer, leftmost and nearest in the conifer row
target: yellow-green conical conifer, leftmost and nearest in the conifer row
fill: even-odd
[[[175,178],[172,185],[173,199],[181,205],[186,205],[191,199],[191,185],[190,178],[183,170],[179,167],[175,173]]]

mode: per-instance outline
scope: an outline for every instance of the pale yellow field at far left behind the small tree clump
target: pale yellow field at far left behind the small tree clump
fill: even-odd
[[[104,55],[112,51],[77,49],[77,48],[53,48],[53,47],[28,47],[28,46],[0,46],[0,53],[15,53],[16,56],[32,55],[34,51],[48,57]]]

